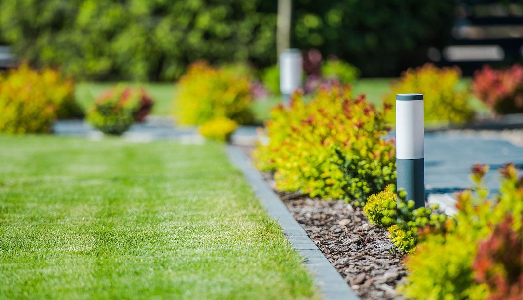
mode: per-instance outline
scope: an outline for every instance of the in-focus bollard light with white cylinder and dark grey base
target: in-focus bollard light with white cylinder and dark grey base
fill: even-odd
[[[423,94],[396,95],[396,187],[425,206]]]

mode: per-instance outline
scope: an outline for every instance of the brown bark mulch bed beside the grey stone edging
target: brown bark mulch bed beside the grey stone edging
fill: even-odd
[[[265,178],[274,187],[270,174]],[[345,201],[277,192],[316,246],[362,299],[402,299],[395,287],[406,275],[403,255],[386,230],[369,224]]]

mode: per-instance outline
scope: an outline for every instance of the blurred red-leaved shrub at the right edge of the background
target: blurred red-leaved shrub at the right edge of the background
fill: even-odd
[[[485,65],[474,72],[472,90],[498,114],[523,112],[523,67],[494,70]]]

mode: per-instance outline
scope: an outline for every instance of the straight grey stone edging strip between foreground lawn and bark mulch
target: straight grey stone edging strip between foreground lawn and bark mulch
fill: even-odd
[[[267,213],[278,221],[292,247],[304,258],[303,264],[313,274],[314,282],[319,287],[322,297],[358,300],[359,297],[350,289],[342,275],[313,243],[301,225],[294,220],[287,206],[272,191],[260,172],[252,166],[242,149],[229,145],[227,153],[233,165],[243,172]]]

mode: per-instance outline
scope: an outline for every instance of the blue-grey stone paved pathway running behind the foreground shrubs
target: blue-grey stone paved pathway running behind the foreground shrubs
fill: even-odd
[[[84,121],[59,121],[53,131],[59,135],[81,135],[101,139],[103,134]],[[523,133],[522,133],[523,134]],[[168,117],[149,117],[142,124],[133,125],[123,138],[133,142],[157,139],[181,143],[201,144],[203,137],[194,127],[175,127]],[[256,140],[256,127],[243,126],[232,137],[233,144],[252,145]],[[487,188],[493,193],[499,188],[497,169],[505,163],[523,167],[523,147],[504,140],[502,133],[481,131],[449,131],[425,134],[425,183],[428,201],[438,203],[447,213],[455,212],[454,193],[471,187],[470,168],[488,164],[491,170],[485,176]]]

